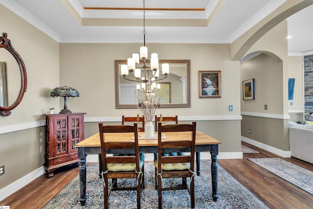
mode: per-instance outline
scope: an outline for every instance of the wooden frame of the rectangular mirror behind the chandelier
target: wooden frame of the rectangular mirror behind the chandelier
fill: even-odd
[[[186,64],[186,103],[173,103],[173,104],[161,104],[160,108],[169,108],[169,107],[190,107],[190,76],[189,76],[189,65],[190,60],[159,60],[160,63],[179,63]],[[137,108],[136,104],[120,104],[119,103],[119,65],[126,64],[127,60],[115,60],[115,108]],[[170,69],[171,73],[171,69]],[[165,79],[166,80],[166,79]],[[165,81],[164,80],[164,81]]]

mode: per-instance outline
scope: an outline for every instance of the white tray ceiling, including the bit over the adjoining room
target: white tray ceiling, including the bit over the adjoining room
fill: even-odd
[[[146,43],[231,43],[285,1],[146,0]],[[143,43],[142,0],[0,3],[60,43]],[[313,6],[288,18],[289,53],[313,50],[312,20]]]

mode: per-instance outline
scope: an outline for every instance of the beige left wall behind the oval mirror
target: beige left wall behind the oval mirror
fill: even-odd
[[[28,79],[20,105],[10,116],[0,116],[0,128],[7,130],[5,126],[27,126],[44,120],[43,114],[48,113],[50,107],[59,110],[59,99],[50,97],[51,90],[59,86],[59,43],[1,4],[0,20],[0,32],[8,34],[22,57]],[[0,134],[0,165],[5,166],[5,174],[0,176],[0,188],[41,167],[44,156],[44,127]]]

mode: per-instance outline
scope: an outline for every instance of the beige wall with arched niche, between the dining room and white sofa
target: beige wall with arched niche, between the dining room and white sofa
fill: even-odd
[[[255,78],[255,100],[242,100],[242,136],[288,151],[287,22],[268,31],[246,54],[260,55],[241,64],[241,81]],[[268,110],[264,105],[268,105]],[[250,116],[249,116],[250,115]],[[251,134],[248,130],[251,129]]]

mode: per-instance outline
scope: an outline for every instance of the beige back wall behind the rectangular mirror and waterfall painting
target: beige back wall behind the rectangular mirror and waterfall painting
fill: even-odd
[[[114,60],[127,59],[141,44],[60,44],[60,85],[77,89],[80,97],[70,98],[67,107],[87,112],[85,117],[135,116],[137,109],[115,109]],[[198,121],[197,129],[222,141],[221,152],[240,152],[240,120],[224,121],[223,116],[240,116],[239,62],[230,61],[229,44],[147,44],[149,53],[159,59],[190,59],[190,108],[161,108],[163,116],[217,116],[212,121]],[[199,98],[199,70],[221,70],[221,98]],[[166,82],[166,79],[164,79]],[[233,105],[233,111],[228,111]],[[190,122],[190,121],[188,121]],[[90,127],[90,124],[86,127]],[[109,124],[109,123],[106,123]],[[216,124],[223,124],[216,126]],[[92,126],[96,126],[93,123]],[[225,130],[238,127],[232,132]],[[97,128],[85,128],[85,136]]]

